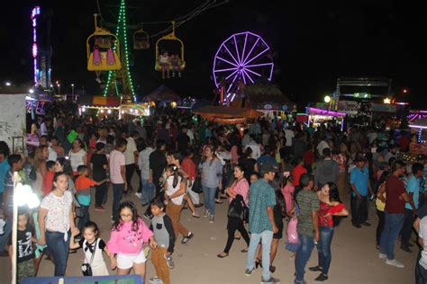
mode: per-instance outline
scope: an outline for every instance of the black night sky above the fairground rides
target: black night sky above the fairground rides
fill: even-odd
[[[118,7],[107,9],[106,4],[118,5],[120,1],[99,1],[104,18],[114,21]],[[132,23],[170,20],[203,2],[127,1],[140,7],[130,18]],[[61,81],[61,93],[70,92],[71,83],[77,89],[85,86],[90,94],[101,93],[95,75],[86,70],[86,37],[93,31],[95,0],[17,0],[4,4],[0,18],[0,80],[31,83],[30,11],[35,4],[41,4],[42,13],[50,10],[53,14],[53,80]],[[212,98],[216,49],[234,32],[253,31],[273,51],[273,82],[296,102],[322,100],[325,93],[334,90],[339,76],[384,76],[393,79],[398,99],[416,102],[413,107],[417,108],[427,87],[427,17],[423,11],[421,4],[413,1],[230,0],[177,29],[177,36],[186,44],[187,68],[182,79],[164,83],[182,96]],[[144,28],[152,34],[166,27]],[[161,75],[153,68],[154,42],[150,44],[149,50],[132,50],[132,77],[141,95],[162,83]],[[404,87],[409,94],[402,94]]]

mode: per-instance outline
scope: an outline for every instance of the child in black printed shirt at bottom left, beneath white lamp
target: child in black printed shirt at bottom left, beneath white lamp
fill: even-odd
[[[18,283],[24,278],[34,277],[34,250],[32,243],[37,240],[32,235],[32,226],[28,224],[28,208],[20,208],[18,210],[18,235],[16,245],[16,257],[18,258]],[[9,256],[12,258],[12,233],[9,236]]]

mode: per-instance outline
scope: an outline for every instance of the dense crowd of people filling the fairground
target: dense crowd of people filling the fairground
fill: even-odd
[[[105,254],[117,274],[133,270],[145,278],[150,258],[156,271],[150,282],[170,283],[178,236],[187,244],[197,235],[196,227],[180,222],[182,210],[187,207],[199,218],[204,207],[204,217],[214,223],[217,204],[225,201],[227,242],[217,257],[229,256],[234,240],[243,238],[245,274],[260,267],[261,282],[278,283],[273,263],[279,240],[286,238],[286,250],[295,257],[295,283],[306,283],[305,266],[314,246],[318,265],[308,269],[320,272],[314,280],[325,281],[335,227],[348,215],[355,228],[371,226],[369,200],[376,200],[372,244],[379,258],[404,268],[395,259],[395,242],[400,237],[401,248],[412,253],[414,228],[422,245],[417,277],[427,283],[427,158],[411,165],[399,159],[398,152],[416,143],[408,133],[396,137],[384,128],[313,129],[277,118],[236,127],[171,110],[159,110],[143,123],[87,120],[59,111],[34,121],[31,140],[27,155],[11,154],[0,142],[2,256],[12,244],[14,173],[41,198],[40,209],[19,209],[19,280],[37,275],[43,253],[54,263],[54,275],[64,276],[68,253],[82,248],[84,275],[108,275]],[[110,214],[110,184],[112,226],[104,242],[89,208]],[[129,194],[140,201],[123,201]],[[349,194],[347,209],[341,198]]]

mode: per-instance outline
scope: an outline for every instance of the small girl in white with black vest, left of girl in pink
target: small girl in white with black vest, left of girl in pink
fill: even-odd
[[[111,269],[114,270],[117,266],[114,259],[114,254],[108,251],[104,241],[99,238],[99,229],[94,222],[87,222],[83,226],[83,238],[76,243],[75,234],[71,235],[69,248],[78,249],[83,248],[85,252],[85,262],[90,265],[92,269],[92,276],[108,275],[108,271],[104,262],[103,252],[110,258]],[[95,253],[95,254],[94,254]]]

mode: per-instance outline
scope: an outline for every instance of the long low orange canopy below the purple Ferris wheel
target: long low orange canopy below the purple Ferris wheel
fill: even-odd
[[[204,119],[257,119],[263,115],[260,111],[248,108],[231,108],[223,106],[208,105],[193,111]]]

